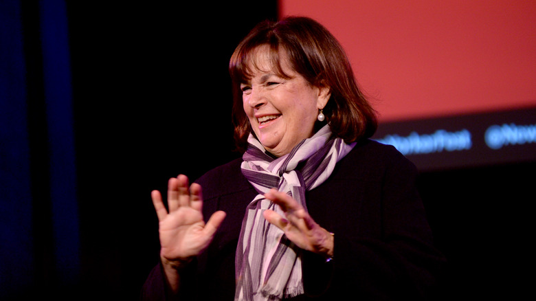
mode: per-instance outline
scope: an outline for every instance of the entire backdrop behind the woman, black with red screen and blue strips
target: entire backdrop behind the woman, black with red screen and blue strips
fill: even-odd
[[[523,296],[536,3],[325,2],[0,0],[0,299],[136,299],[159,258],[150,191],[240,156],[228,60],[288,14],[339,38],[375,139],[419,168],[445,299]]]

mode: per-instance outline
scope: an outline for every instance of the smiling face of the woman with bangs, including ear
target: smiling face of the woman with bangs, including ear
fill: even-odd
[[[256,67],[251,80],[241,84],[243,107],[260,143],[273,155],[289,153],[311,137],[318,115],[329,99],[329,87],[313,87],[290,65],[280,50],[281,67],[290,78],[278,76],[269,60],[269,48],[254,52]]]

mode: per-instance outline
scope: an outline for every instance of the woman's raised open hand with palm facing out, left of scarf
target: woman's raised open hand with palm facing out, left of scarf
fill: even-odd
[[[176,272],[208,247],[225,219],[225,212],[218,211],[214,212],[205,224],[201,212],[201,186],[193,183],[188,188],[188,185],[188,177],[185,175],[168,181],[169,212],[164,206],[160,192],[151,192],[159,221],[160,258],[166,269],[166,276],[169,276],[170,267]]]

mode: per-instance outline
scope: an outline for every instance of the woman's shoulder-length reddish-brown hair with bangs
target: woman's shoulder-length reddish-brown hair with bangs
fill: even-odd
[[[377,129],[377,115],[359,90],[350,62],[337,39],[313,19],[291,16],[278,22],[259,23],[238,44],[229,64],[232,78],[233,123],[236,146],[244,150],[252,132],[243,109],[240,85],[252,76],[254,50],[268,45],[274,71],[282,71],[279,49],[284,49],[291,67],[311,85],[330,87],[331,97],[322,110],[331,131],[345,142],[371,137]]]

